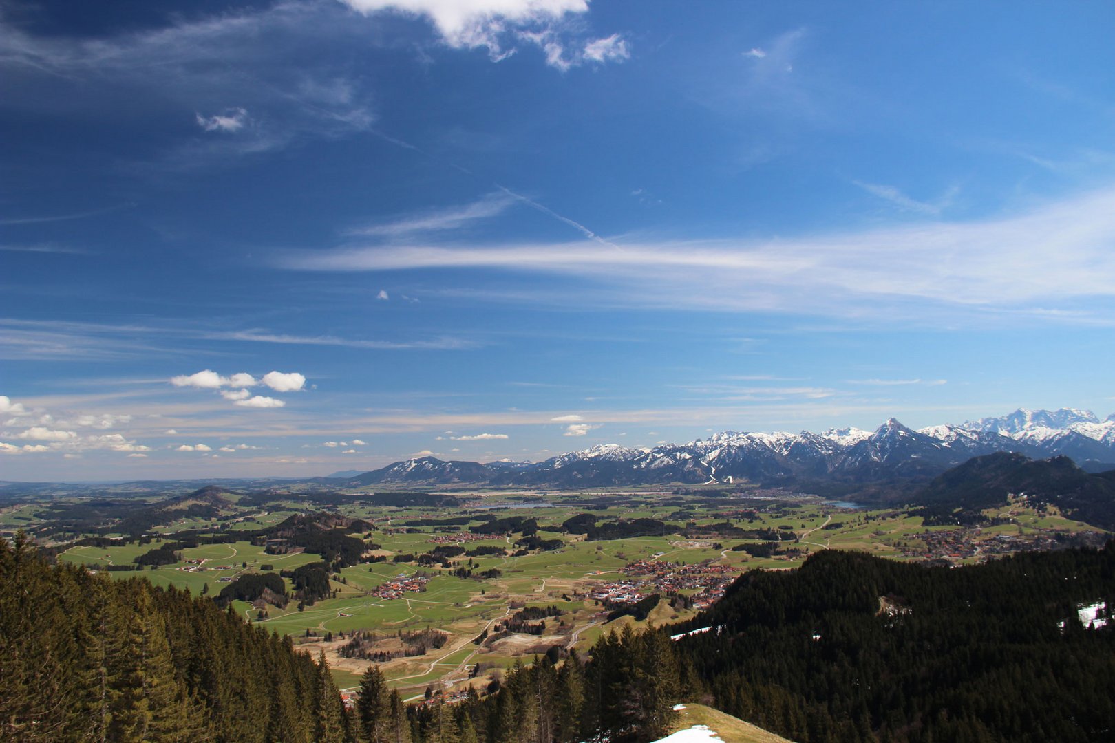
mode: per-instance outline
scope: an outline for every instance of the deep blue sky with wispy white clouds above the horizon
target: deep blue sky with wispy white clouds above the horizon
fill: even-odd
[[[1106,416],[1113,22],[0,0],[0,479]]]

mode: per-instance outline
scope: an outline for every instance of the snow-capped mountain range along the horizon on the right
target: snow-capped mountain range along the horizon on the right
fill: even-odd
[[[353,485],[486,483],[621,487],[837,480],[869,482],[932,477],[972,457],[1012,451],[1034,459],[1067,456],[1093,471],[1115,469],[1115,414],[1087,410],[1016,410],[959,426],[912,430],[891,418],[874,431],[822,433],[724,431],[688,443],[631,449],[615,443],[543,462],[442,461],[424,457],[352,478]]]

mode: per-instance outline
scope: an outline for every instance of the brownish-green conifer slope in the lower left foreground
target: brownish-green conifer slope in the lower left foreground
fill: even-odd
[[[328,668],[207,598],[0,539],[0,740],[343,741]]]

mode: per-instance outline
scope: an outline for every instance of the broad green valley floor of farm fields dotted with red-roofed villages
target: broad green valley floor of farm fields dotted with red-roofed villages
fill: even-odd
[[[1005,520],[993,527],[958,532],[927,527],[901,509],[862,510],[816,498],[586,491],[460,499],[449,509],[361,500],[322,508],[298,497],[260,508],[227,499],[214,511],[219,517],[177,518],[180,508],[142,540],[74,545],[58,559],[212,597],[245,576],[278,576],[283,597],[235,598],[233,610],[314,655],[323,652],[341,687],[355,686],[369,663],[378,662],[388,682],[415,698],[430,685],[487,685],[516,662],[547,652],[586,652],[601,635],[629,624],[683,620],[743,571],[793,568],[818,550],[967,563],[1022,548],[1028,539],[1090,528],[1025,505],[998,515]],[[260,536],[299,515],[322,511],[353,526],[347,532],[362,542],[363,561],[328,565],[319,553],[289,546],[274,554]],[[9,508],[0,524],[19,524],[35,512],[28,506]],[[605,531],[563,526],[585,515]],[[658,532],[622,536],[640,524]],[[483,532],[486,525],[493,534]],[[200,542],[183,546],[178,538]],[[173,550],[173,563],[125,569],[164,547]],[[328,587],[300,600],[295,569],[314,565],[328,568]],[[682,574],[692,576],[689,583],[676,581]],[[662,598],[648,613],[624,610],[656,594]]]

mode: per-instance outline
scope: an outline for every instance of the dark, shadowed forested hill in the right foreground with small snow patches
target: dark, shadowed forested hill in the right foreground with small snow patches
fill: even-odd
[[[711,627],[677,645],[715,705],[799,743],[1113,740],[1115,627],[1085,606],[1115,607],[1115,541],[958,569],[826,550],[672,632]]]

